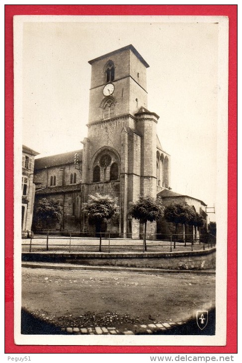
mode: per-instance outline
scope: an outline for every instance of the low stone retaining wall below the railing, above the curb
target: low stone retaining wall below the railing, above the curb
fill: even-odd
[[[164,270],[215,270],[216,248],[171,253],[23,253],[22,261],[66,262],[92,266],[143,267]]]

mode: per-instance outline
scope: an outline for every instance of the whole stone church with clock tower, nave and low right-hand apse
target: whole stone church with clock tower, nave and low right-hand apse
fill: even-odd
[[[188,198],[206,216],[203,201],[170,190],[170,156],[157,136],[159,116],[148,109],[149,65],[144,58],[128,45],[88,63],[89,119],[82,149],[35,161],[35,203],[46,197],[63,206],[63,218],[52,229],[94,232],[81,209],[88,195],[96,192],[118,198],[119,219],[103,226],[103,232],[113,237],[140,238],[143,225],[128,213],[129,203],[139,195],[159,194],[164,205]],[[33,229],[40,228],[45,226],[33,218]],[[148,237],[158,232],[157,223],[149,223]]]

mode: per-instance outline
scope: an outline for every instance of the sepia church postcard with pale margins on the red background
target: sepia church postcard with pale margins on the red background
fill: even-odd
[[[13,25],[16,344],[225,345],[228,19]]]

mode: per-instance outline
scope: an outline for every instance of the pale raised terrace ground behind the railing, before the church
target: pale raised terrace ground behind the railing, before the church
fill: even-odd
[[[41,238],[40,238],[41,237]],[[22,239],[22,252],[29,251],[30,239]],[[32,252],[44,252],[46,251],[46,236],[35,235],[31,241]],[[77,237],[60,238],[58,236],[51,235],[48,240],[49,251],[66,251],[66,252],[98,252],[99,250],[99,239],[80,239]],[[208,246],[205,244],[205,248]],[[193,246],[190,242],[186,243],[176,243],[174,249],[174,242],[171,244],[172,251],[198,251],[203,250],[203,244],[196,242]],[[103,252],[143,252],[143,241],[133,240],[133,239],[111,239],[110,247],[109,240],[102,240],[102,251]],[[148,252],[170,252],[170,241],[147,241],[147,251]]]

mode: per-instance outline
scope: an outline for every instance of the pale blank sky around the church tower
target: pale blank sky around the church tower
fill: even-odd
[[[160,116],[157,133],[171,156],[170,186],[212,207],[217,182],[218,24],[172,18],[164,22],[157,16],[74,20],[23,23],[23,144],[39,152],[38,157],[81,149],[87,136],[88,61],[132,44],[150,65],[148,109]],[[215,219],[214,214],[209,217]]]

